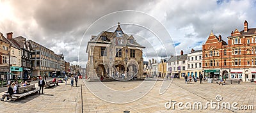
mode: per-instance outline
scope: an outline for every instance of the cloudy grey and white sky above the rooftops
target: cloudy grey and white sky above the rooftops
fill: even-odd
[[[255,0],[0,0],[0,32],[34,40],[84,67],[90,36],[115,30],[117,22],[146,47],[145,57],[179,55],[202,49],[211,31],[227,40],[243,30],[244,20],[256,27],[255,6]]]

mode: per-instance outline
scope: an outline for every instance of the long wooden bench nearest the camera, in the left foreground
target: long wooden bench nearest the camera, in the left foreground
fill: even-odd
[[[17,87],[17,93],[8,95],[8,98],[10,98],[10,100],[12,100],[12,101],[15,101],[19,98],[26,97],[29,94],[38,93],[38,90],[39,89],[36,88],[35,84],[29,85],[29,86]]]

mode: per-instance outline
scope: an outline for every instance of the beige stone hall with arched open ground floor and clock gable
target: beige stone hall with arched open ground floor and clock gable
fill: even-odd
[[[92,36],[86,49],[88,79],[143,79],[143,49],[132,35],[122,31],[119,23],[114,32],[102,31]]]

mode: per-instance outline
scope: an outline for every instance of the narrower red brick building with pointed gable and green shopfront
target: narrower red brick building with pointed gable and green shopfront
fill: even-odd
[[[227,58],[227,43],[212,32],[202,47],[203,70],[206,77],[218,78],[221,70],[226,69],[224,61]],[[227,62],[227,61],[226,61]]]

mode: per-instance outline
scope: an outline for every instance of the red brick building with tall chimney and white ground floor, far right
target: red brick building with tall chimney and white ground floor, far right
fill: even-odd
[[[248,29],[244,21],[244,30],[235,31],[228,36],[230,52],[230,79],[244,81],[255,80],[256,76],[256,28]]]

